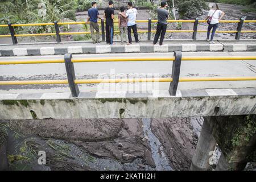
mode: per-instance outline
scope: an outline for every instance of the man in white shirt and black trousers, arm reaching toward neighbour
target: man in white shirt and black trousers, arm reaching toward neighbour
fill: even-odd
[[[132,2],[128,2],[127,7],[128,7],[128,10],[126,11],[125,15],[121,14],[121,13],[119,13],[119,14],[121,14],[125,18],[128,17],[127,29],[128,29],[129,43],[132,42],[131,29],[133,29],[133,35],[134,35],[134,38],[135,38],[135,42],[138,43],[139,39],[138,39],[137,24],[136,24],[136,16],[137,16],[138,12],[135,8],[133,8],[133,3]]]

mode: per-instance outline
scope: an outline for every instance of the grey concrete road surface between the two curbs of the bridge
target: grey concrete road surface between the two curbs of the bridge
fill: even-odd
[[[255,56],[256,52],[183,52],[183,56]],[[84,57],[112,57],[113,54],[77,54],[74,59]],[[114,56],[173,56],[173,53],[116,53]],[[51,56],[15,56],[0,57],[4,60],[48,60],[63,59],[63,55]],[[75,63],[77,79],[114,77],[171,77],[172,61],[136,61],[136,62],[101,62]],[[255,60],[236,61],[183,61],[180,77],[243,77],[256,76]],[[19,64],[1,65],[0,80],[53,80],[67,79],[64,63],[55,64]],[[130,83],[130,84],[79,84],[81,92],[96,92],[99,90],[150,92],[150,90],[168,90],[169,82]],[[129,88],[127,88],[129,86]],[[221,88],[255,88],[256,81],[199,81],[180,82],[178,90],[189,89],[221,89]],[[0,85],[0,93],[49,93],[70,92],[67,84],[64,85]]]

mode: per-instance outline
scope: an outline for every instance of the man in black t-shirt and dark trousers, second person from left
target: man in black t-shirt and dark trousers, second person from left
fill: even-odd
[[[109,7],[107,7],[104,11],[104,16],[106,19],[106,43],[113,44],[113,36],[114,36],[114,2],[109,1]]]

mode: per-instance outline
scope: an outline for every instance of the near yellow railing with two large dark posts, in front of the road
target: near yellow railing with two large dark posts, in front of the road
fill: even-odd
[[[27,81],[0,81],[0,85],[31,85],[31,84],[69,84],[73,97],[79,96],[79,86],[77,84],[104,84],[104,83],[125,83],[125,82],[170,82],[169,93],[171,96],[176,95],[179,82],[191,81],[250,81],[256,80],[255,77],[181,77],[181,61],[236,61],[236,60],[256,60],[256,56],[210,56],[195,57],[182,56],[180,51],[170,57],[97,57],[85,59],[72,59],[72,54],[66,53],[64,59],[56,60],[19,60],[19,61],[0,61],[0,65],[10,64],[44,64],[44,63],[65,63],[67,80],[27,80]],[[73,63],[89,62],[113,62],[113,61],[173,61],[171,77],[168,78],[118,78],[118,79],[85,79],[77,80]]]

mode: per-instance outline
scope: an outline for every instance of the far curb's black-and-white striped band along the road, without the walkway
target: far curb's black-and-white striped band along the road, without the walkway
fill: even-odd
[[[128,53],[128,52],[174,52],[174,51],[256,51],[253,43],[185,43],[185,44],[132,44],[132,45],[97,45],[97,46],[53,46],[53,47],[22,47],[1,48],[0,56],[30,55],[64,55],[65,53]]]

